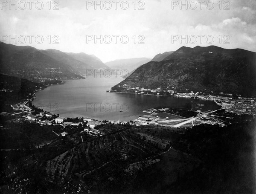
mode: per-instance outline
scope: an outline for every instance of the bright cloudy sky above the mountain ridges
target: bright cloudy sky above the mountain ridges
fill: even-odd
[[[103,62],[153,58],[181,46],[256,52],[255,0],[0,3],[0,40],[17,46],[84,52]]]

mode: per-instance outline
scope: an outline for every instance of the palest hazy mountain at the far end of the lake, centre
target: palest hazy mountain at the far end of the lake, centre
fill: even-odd
[[[120,75],[122,71],[122,76],[125,77],[127,75],[131,75],[135,69],[140,67],[141,65],[150,61],[149,58],[128,58],[128,59],[117,59],[115,61],[109,61],[105,63],[111,69],[118,69],[116,72]],[[125,73],[127,72],[128,73]]]

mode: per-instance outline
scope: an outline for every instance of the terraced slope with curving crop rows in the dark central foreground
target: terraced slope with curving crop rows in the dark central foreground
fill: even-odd
[[[109,168],[113,160],[121,159],[132,164],[162,153],[168,140],[146,134],[146,130],[128,129],[81,143],[60,156],[47,161],[50,180],[60,180],[67,175],[86,179],[101,168]],[[150,164],[150,162],[149,162]]]

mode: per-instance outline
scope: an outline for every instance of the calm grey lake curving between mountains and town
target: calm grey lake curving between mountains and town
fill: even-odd
[[[152,107],[190,108],[191,101],[193,104],[204,104],[201,106],[203,111],[218,108],[213,101],[208,100],[106,92],[122,80],[123,78],[114,76],[66,80],[63,85],[53,85],[38,91],[32,103],[43,110],[66,118],[90,117],[101,121],[134,120],[146,114],[143,110]]]

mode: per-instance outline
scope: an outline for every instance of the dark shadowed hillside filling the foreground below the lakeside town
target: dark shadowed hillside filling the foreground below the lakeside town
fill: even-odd
[[[252,194],[252,118],[236,115],[227,127],[202,124],[184,134],[153,125],[105,124],[98,128],[103,136],[80,133],[78,128],[56,136],[52,130],[63,131],[58,125],[9,122],[0,131],[0,147],[23,151],[1,152],[0,191]],[[52,143],[30,150],[48,142]]]

